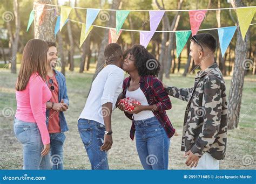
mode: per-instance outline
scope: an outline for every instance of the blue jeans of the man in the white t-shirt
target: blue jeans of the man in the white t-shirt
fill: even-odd
[[[100,150],[100,146],[104,143],[105,126],[89,119],[79,119],[77,126],[91,162],[91,168],[109,169],[107,152]]]

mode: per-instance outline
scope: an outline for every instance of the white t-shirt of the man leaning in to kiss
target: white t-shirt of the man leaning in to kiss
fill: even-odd
[[[104,125],[103,116],[109,114],[107,109],[102,109],[105,103],[112,103],[113,109],[117,98],[123,91],[124,70],[116,65],[107,65],[92,82],[90,94],[79,118],[90,119]]]

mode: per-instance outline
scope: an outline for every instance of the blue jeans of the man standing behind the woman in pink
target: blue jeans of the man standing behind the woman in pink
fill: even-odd
[[[52,169],[62,170],[63,169],[63,145],[65,141],[65,134],[60,133],[50,133],[50,155],[52,162]]]

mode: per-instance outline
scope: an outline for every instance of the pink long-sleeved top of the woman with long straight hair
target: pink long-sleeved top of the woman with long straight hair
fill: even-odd
[[[50,98],[51,91],[38,73],[30,76],[25,90],[16,90],[17,110],[15,117],[24,122],[36,123],[44,145],[50,143],[45,122],[46,102]]]

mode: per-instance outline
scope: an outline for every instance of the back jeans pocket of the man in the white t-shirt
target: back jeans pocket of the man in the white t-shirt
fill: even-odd
[[[78,123],[78,131],[84,146],[89,146],[92,144],[92,130],[92,127],[87,123]]]

